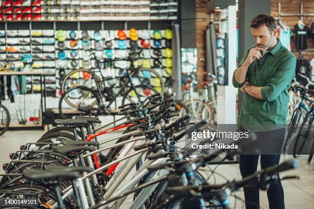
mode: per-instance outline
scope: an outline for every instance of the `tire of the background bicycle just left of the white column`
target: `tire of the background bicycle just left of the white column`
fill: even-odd
[[[207,124],[211,124],[211,121],[212,121],[212,109],[211,109],[211,107],[208,106],[207,103],[205,103],[205,102],[203,102],[203,101],[201,101],[199,99],[192,99],[192,101],[202,104],[202,106],[200,108],[200,110],[201,110],[200,113],[202,114],[201,115],[202,117],[198,117],[197,115],[194,114],[194,111],[191,110],[191,108],[190,108],[191,100],[187,100],[187,101],[184,102],[184,105],[186,105],[188,107],[188,109],[189,109],[189,111],[191,113],[190,121],[192,121],[192,122],[199,122],[200,120],[208,119],[208,123]],[[204,111],[207,111],[209,115],[204,115],[205,114]],[[208,117],[208,118],[206,118],[206,117]]]

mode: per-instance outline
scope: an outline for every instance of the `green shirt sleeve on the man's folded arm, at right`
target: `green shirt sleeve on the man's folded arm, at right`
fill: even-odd
[[[297,59],[290,56],[281,62],[276,73],[271,77],[267,86],[262,87],[262,97],[266,101],[276,99],[288,86],[291,80],[296,76]]]

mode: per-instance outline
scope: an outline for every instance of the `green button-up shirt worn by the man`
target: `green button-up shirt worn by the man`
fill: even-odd
[[[249,48],[239,68],[254,47],[256,45]],[[279,39],[270,52],[252,62],[247,78],[250,85],[262,87],[264,100],[245,94],[238,121],[240,126],[251,131],[270,131],[284,127],[287,123],[289,102],[287,90],[295,77],[296,62],[296,57],[282,46]],[[232,83],[235,88],[244,84],[235,80],[234,73]]]

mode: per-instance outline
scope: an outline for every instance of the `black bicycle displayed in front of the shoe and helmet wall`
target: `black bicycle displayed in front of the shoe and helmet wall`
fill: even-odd
[[[163,78],[152,69],[143,69],[138,65],[142,50],[133,51],[127,58],[105,59],[95,58],[94,70],[78,69],[69,72],[63,79],[59,109],[62,107],[95,106],[110,109],[112,103],[122,96],[122,104],[138,102],[157,92],[164,92]],[[92,53],[94,57],[95,52]],[[102,65],[129,61],[130,67],[120,69],[120,76],[104,75],[107,69]],[[108,71],[108,70],[107,70]],[[99,98],[98,98],[99,97]]]

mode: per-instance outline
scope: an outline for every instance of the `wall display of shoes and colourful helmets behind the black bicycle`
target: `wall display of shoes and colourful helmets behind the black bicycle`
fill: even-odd
[[[5,30],[0,30],[0,60],[7,59],[20,66],[22,55],[31,54],[32,71],[46,74],[47,96],[61,96],[63,76],[71,70],[96,67],[95,60],[90,57],[91,51],[96,51],[96,58],[102,60],[126,58],[131,50],[141,48],[140,65],[154,69],[165,79],[172,75],[170,26],[162,30],[136,30],[126,23],[124,29],[106,30],[102,22],[96,30],[85,30],[77,22],[74,30],[58,29],[56,23],[50,30],[39,30],[33,29],[30,22],[29,30],[8,30],[8,24],[5,23]],[[109,62],[102,66],[102,72],[114,77],[129,65],[128,61]],[[39,81],[36,77],[27,79],[27,93],[39,93]]]

